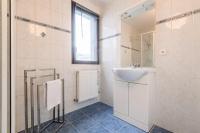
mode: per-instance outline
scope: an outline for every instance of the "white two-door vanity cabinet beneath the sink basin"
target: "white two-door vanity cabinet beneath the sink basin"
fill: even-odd
[[[135,83],[114,81],[114,115],[148,132],[153,126],[149,121],[150,91],[154,87],[153,74],[147,74]]]

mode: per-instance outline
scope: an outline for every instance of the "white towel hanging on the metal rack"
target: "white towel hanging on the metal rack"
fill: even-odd
[[[60,79],[48,81],[45,92],[47,110],[51,110],[62,102],[62,81]]]

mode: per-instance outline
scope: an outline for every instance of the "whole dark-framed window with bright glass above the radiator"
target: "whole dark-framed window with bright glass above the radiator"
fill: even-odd
[[[72,2],[72,63],[99,64],[99,16]]]

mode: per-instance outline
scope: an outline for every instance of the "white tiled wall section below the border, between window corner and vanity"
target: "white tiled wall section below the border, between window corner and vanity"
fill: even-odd
[[[101,41],[101,101],[113,105],[113,67],[116,66],[120,36]]]

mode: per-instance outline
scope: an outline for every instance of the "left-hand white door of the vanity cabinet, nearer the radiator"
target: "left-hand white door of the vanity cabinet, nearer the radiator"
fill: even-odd
[[[115,81],[114,111],[128,116],[128,83]]]

